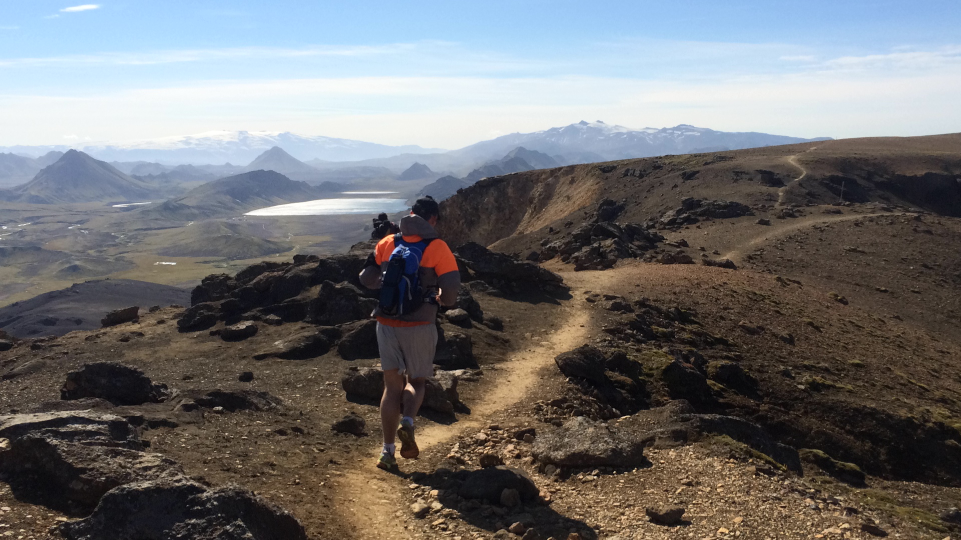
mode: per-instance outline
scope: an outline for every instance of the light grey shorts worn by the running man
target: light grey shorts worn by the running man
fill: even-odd
[[[377,346],[384,370],[396,369],[410,379],[433,377],[437,326],[388,327],[377,323]]]

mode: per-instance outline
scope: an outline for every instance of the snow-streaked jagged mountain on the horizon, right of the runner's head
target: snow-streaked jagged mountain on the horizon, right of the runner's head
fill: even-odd
[[[680,124],[673,128],[631,129],[602,121],[571,124],[530,134],[503,135],[472,144],[451,154],[464,158],[489,159],[503,156],[518,146],[561,157],[567,162],[622,160],[665,154],[689,154],[737,150],[809,140],[794,136],[760,133],[717,132]]]

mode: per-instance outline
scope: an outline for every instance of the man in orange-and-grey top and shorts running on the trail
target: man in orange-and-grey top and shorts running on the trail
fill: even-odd
[[[410,214],[401,219],[401,233],[385,236],[378,242],[360,272],[364,286],[382,289],[381,304],[374,310],[383,369],[383,449],[377,462],[382,469],[397,467],[395,432],[401,439],[402,457],[413,459],[420,454],[414,440],[414,417],[424,402],[424,380],[433,376],[437,307],[453,306],[460,288],[454,254],[433,228],[439,218],[440,209],[432,197],[417,199]],[[408,258],[413,254],[414,262],[407,262],[413,264],[416,276],[404,274],[410,278],[407,280],[391,278],[391,264],[402,257],[398,254]],[[395,309],[389,302],[385,307],[384,298],[389,297],[390,287],[400,282],[416,283],[416,290],[409,294],[403,284],[397,285],[404,291],[400,296],[407,299],[410,309],[407,312],[403,308]]]

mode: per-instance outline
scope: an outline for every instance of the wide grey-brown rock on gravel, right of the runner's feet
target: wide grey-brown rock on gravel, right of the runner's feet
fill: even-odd
[[[530,452],[542,463],[560,467],[638,467],[650,464],[644,443],[580,416],[562,427],[543,431]]]

